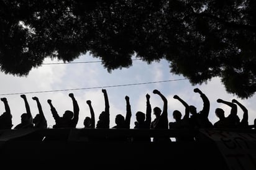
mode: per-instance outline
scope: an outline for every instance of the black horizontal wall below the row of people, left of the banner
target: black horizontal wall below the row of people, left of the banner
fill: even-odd
[[[12,132],[15,131],[9,131]],[[165,133],[157,130],[142,132],[144,131],[112,129],[35,130],[27,135],[2,141],[1,164],[26,169],[227,169],[217,146],[207,138],[201,141],[158,143],[106,138],[101,140],[104,136],[178,135],[178,131],[170,130],[163,130]],[[196,133],[180,132],[180,135]],[[88,140],[88,136],[100,138]]]

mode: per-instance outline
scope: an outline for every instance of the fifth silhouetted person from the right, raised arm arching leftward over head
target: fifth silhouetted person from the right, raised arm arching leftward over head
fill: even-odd
[[[157,89],[153,90],[153,94],[158,94],[163,101],[163,112],[159,107],[153,109],[153,114],[155,114],[155,119],[151,123],[151,128],[154,129],[168,129],[168,114],[167,114],[167,98]],[[162,112],[162,114],[161,114]],[[154,137],[153,141],[170,141],[168,137]]]

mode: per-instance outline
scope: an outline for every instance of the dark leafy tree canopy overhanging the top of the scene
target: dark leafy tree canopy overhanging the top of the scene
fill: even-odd
[[[0,0],[0,69],[27,75],[46,57],[90,52],[108,71],[170,61],[191,84],[219,76],[226,91],[256,91],[256,1]]]

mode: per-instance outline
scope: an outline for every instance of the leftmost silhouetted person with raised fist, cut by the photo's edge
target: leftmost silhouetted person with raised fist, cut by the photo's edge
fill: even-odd
[[[6,97],[1,98],[1,101],[4,102],[4,107],[6,112],[0,115],[0,129],[11,129],[12,128],[12,115],[9,104]]]

